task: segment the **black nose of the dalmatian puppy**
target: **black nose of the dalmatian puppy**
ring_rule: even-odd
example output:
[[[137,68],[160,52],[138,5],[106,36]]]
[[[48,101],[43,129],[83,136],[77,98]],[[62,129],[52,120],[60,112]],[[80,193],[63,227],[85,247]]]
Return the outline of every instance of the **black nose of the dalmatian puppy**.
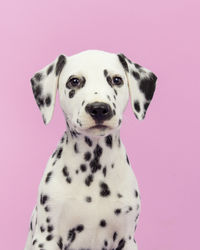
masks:
[[[104,102],[93,102],[87,104],[85,110],[97,122],[109,120],[113,115],[110,105]]]

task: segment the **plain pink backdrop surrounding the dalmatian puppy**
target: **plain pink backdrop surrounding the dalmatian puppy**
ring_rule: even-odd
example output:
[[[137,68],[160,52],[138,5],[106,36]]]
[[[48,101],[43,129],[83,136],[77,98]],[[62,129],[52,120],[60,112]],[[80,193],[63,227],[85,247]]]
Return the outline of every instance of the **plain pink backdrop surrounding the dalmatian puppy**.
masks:
[[[3,1],[0,6],[0,248],[23,249],[46,162],[65,129],[45,127],[30,77],[60,53],[122,52],[158,76],[146,119],[122,140],[142,194],[140,250],[199,248],[199,1]]]

